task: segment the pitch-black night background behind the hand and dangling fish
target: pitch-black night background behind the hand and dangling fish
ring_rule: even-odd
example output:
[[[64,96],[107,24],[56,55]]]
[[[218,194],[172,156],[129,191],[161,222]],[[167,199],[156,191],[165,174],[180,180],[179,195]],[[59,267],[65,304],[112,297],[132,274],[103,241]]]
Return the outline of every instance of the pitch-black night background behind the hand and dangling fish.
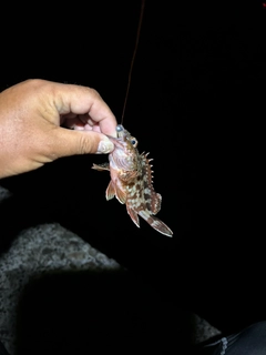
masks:
[[[7,8],[1,89],[29,78],[90,85],[120,123],[140,10]],[[145,3],[123,124],[154,159],[157,216],[173,239],[105,201],[109,174],[91,166],[106,156],[95,155],[2,180],[14,192],[2,243],[57,221],[221,329],[265,320],[265,23],[262,1]]]

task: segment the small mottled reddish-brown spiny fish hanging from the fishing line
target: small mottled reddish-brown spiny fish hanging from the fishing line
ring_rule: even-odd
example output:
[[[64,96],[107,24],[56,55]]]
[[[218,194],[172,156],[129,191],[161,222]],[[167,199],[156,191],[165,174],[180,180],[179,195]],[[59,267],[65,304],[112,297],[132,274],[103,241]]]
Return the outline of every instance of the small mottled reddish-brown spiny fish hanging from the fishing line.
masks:
[[[172,230],[155,216],[161,210],[162,195],[153,186],[153,159],[147,159],[150,153],[139,153],[137,140],[122,124],[116,125],[116,133],[117,138],[109,136],[114,144],[109,162],[92,165],[94,170],[110,172],[106,200],[116,197],[120,203],[125,204],[137,227],[141,216],[157,232],[173,236]]]

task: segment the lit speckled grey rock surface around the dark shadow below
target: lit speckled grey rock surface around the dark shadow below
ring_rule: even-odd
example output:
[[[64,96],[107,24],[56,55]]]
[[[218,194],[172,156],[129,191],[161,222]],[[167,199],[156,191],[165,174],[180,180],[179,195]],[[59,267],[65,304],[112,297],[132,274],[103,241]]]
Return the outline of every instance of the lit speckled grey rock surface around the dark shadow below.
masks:
[[[11,195],[0,186],[0,202]],[[25,285],[51,272],[119,271],[122,266],[58,223],[21,231],[0,257],[0,339],[13,355],[17,306]],[[219,334],[206,321],[193,316],[193,342]]]

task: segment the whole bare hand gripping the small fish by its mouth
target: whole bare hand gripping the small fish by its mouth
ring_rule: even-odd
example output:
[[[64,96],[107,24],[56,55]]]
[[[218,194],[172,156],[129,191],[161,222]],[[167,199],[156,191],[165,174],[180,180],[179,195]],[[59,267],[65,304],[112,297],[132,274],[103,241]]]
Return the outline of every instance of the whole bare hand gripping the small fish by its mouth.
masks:
[[[116,120],[90,88],[27,80],[0,93],[0,178],[74,154],[110,153]],[[70,130],[72,129],[72,130]]]

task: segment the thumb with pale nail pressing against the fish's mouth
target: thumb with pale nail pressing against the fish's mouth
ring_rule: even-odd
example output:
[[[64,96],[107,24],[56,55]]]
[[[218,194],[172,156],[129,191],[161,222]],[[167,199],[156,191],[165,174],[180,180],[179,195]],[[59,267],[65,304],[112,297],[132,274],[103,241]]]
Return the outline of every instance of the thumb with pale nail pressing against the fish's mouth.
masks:
[[[108,154],[114,150],[110,139],[94,131],[74,131],[58,126],[52,142],[57,158],[76,154]]]

